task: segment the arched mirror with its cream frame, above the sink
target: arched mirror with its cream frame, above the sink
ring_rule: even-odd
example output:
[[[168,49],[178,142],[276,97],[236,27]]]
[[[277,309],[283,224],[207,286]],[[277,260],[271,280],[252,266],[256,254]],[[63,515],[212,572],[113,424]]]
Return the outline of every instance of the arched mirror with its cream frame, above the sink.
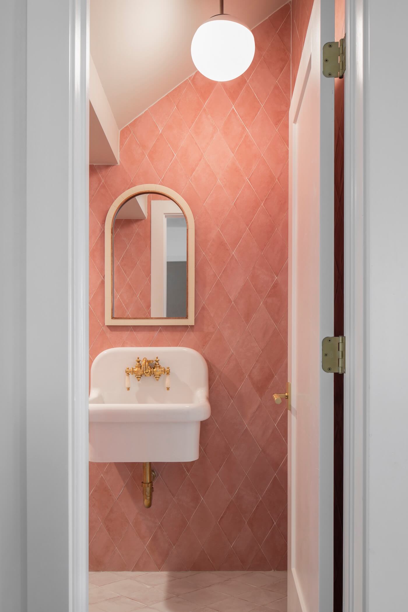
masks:
[[[132,187],[109,209],[105,324],[194,324],[194,218],[172,189]]]

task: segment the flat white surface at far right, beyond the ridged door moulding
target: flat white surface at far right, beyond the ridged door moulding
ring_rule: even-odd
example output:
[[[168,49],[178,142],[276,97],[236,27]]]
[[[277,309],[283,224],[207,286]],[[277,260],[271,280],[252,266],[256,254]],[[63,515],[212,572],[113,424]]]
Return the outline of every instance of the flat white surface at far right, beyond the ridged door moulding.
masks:
[[[406,57],[407,23],[407,2],[366,1],[369,612],[405,610],[408,605],[408,86],[399,61]]]

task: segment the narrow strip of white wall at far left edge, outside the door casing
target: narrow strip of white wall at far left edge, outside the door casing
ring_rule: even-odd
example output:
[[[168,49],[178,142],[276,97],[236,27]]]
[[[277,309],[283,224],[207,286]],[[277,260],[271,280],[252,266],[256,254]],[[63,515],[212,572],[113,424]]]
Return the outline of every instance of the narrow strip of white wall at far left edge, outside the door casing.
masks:
[[[0,19],[0,610],[26,610],[26,2]]]

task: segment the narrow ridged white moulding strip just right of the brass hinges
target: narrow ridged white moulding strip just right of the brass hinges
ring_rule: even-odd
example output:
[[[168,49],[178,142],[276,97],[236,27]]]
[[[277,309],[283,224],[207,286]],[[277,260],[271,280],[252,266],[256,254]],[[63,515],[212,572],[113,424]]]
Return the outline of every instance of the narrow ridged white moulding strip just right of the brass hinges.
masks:
[[[363,62],[367,44],[365,0],[346,0],[347,65],[344,91],[344,612],[365,608],[365,398],[368,359],[365,315]],[[360,332],[356,333],[356,330]],[[360,406],[361,409],[355,409]]]

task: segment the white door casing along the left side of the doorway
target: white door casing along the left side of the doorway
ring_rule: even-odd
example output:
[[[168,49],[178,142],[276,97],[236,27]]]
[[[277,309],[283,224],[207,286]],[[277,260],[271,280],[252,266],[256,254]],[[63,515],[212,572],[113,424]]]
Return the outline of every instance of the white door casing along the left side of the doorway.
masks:
[[[28,612],[88,609],[88,15],[27,0]]]

